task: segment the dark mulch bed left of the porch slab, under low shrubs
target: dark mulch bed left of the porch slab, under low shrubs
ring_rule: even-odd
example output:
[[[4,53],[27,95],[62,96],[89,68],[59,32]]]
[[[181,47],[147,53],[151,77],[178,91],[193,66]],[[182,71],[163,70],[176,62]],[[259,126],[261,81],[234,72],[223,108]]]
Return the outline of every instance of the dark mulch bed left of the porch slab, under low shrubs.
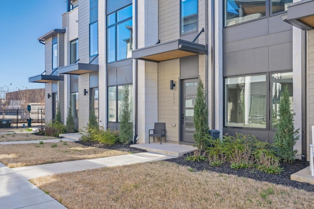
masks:
[[[85,146],[91,146],[91,147],[97,147],[97,148],[103,148],[103,149],[114,149],[114,150],[129,152],[129,153],[147,152],[146,150],[143,150],[143,149],[131,147],[130,146],[131,144],[104,145],[97,141],[83,141],[83,140],[76,141],[76,143],[79,143]]]

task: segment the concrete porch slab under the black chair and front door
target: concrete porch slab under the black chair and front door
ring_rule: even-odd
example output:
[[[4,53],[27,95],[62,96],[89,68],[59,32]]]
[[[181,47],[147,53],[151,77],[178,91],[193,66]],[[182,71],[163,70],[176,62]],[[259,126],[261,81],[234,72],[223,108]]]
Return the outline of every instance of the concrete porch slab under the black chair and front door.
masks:
[[[148,152],[170,155],[175,157],[181,157],[185,153],[192,152],[197,150],[196,147],[184,144],[175,144],[175,143],[145,143],[145,144],[132,144],[131,147],[144,149]]]

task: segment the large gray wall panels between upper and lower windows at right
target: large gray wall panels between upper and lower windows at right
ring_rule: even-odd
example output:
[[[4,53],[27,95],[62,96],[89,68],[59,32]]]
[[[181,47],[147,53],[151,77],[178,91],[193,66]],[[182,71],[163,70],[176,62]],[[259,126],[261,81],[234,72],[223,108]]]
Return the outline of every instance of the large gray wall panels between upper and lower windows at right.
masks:
[[[224,76],[292,70],[292,26],[280,16],[223,30]]]

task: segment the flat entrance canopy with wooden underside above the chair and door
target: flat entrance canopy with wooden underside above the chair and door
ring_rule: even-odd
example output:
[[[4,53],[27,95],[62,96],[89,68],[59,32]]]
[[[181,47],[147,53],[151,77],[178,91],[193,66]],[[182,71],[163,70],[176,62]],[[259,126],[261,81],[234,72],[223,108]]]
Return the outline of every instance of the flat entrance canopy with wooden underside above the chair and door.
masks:
[[[208,47],[205,45],[177,39],[174,41],[133,50],[132,59],[162,62],[166,60],[207,53]]]

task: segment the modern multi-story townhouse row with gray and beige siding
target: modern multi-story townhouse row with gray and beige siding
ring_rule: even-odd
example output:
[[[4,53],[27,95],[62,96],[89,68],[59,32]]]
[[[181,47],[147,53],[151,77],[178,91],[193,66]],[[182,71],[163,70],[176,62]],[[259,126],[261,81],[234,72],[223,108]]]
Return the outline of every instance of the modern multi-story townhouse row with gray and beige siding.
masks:
[[[210,129],[269,142],[288,85],[300,128],[295,149],[306,156],[314,125],[314,1],[292,3],[68,0],[62,29],[38,38],[45,73],[29,81],[46,83],[47,119],[59,107],[63,121],[72,114],[80,129],[90,112],[100,125],[119,129],[127,85],[139,142],[148,142],[154,122],[165,122],[167,141],[185,144],[194,143],[199,79],[208,92]]]

